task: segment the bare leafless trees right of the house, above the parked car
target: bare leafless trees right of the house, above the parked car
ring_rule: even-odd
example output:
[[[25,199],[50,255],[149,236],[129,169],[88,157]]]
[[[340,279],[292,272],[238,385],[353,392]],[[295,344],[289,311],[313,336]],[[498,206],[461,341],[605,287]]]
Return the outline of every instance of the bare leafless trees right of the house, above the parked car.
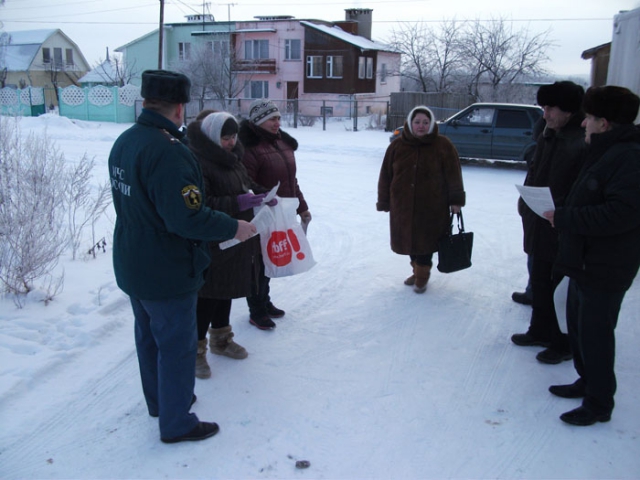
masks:
[[[549,32],[532,35],[503,18],[483,22],[445,20],[437,28],[402,23],[388,42],[402,52],[402,76],[423,92],[461,92],[476,99],[517,92],[510,86],[543,75]],[[486,89],[485,89],[486,90]]]

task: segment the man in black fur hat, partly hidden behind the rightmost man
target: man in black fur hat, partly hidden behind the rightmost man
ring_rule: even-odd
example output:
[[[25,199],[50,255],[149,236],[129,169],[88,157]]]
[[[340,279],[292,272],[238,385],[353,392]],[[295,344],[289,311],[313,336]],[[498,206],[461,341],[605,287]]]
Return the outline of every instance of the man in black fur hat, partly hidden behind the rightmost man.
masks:
[[[556,206],[562,206],[575,181],[586,148],[581,127],[584,89],[573,82],[555,82],[538,90],[546,126],[537,140],[524,184],[548,187]],[[532,312],[529,329],[511,337],[516,345],[541,346],[538,361],[558,364],[571,359],[569,339],[556,316],[553,293],[562,277],[553,276],[558,235],[544,218],[522,199],[518,202],[524,230],[524,251],[531,259]]]

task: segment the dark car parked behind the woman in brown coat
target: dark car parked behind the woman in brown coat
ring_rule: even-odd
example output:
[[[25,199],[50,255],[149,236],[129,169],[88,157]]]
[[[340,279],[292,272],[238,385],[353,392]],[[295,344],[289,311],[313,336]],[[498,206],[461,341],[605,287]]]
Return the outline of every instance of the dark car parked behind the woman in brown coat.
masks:
[[[528,161],[536,145],[534,125],[542,114],[535,105],[474,103],[438,128],[461,157]]]

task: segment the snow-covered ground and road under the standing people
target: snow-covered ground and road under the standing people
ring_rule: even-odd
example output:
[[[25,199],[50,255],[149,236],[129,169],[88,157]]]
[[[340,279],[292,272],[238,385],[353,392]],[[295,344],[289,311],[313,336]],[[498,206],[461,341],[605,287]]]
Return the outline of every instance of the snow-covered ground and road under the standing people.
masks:
[[[46,129],[68,161],[95,156],[96,183],[127,127],[21,120],[24,135]],[[274,331],[251,326],[246,303],[234,301],[249,357],[210,355],[213,377],[196,382],[193,406],[220,433],[160,442],[109,241],[96,259],[61,262],[65,288],[48,306],[38,292],[23,309],[0,299],[0,478],[640,477],[638,282],[617,329],[611,422],[566,425],[558,416],[579,402],[547,388],[575,380],[571,362],[540,364],[538,349],[509,340],[530,316],[510,299],[526,282],[514,187],[524,172],[463,167],[473,267],[435,272],[417,295],[402,283],[407,257],[389,249],[388,214],[375,210],[389,134],[340,122],[285,130],[300,143],[318,264],[272,281],[287,311]],[[110,208],[99,236],[110,240],[113,222]],[[296,469],[297,460],[310,467]]]

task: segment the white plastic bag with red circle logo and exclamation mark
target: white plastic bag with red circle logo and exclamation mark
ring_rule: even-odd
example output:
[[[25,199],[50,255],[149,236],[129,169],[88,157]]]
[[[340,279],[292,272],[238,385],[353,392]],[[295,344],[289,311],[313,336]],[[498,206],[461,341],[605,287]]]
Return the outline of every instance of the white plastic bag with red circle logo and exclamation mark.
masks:
[[[277,198],[276,206],[261,207],[273,215],[267,229],[260,231],[264,270],[269,278],[304,273],[316,264],[307,236],[296,219],[298,199]]]

